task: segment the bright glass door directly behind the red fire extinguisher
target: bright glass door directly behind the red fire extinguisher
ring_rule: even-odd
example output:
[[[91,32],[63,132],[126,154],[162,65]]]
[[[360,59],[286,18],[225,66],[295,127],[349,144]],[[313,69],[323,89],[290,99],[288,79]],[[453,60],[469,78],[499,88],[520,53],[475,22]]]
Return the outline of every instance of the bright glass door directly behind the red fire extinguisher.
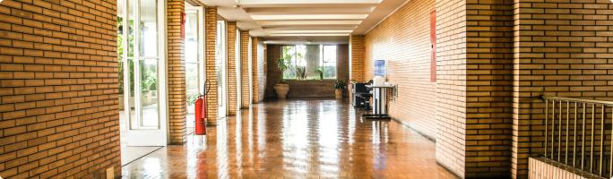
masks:
[[[195,107],[204,84],[204,18],[203,7],[186,7],[186,95],[187,128],[194,127]],[[188,130],[189,131],[189,130]]]

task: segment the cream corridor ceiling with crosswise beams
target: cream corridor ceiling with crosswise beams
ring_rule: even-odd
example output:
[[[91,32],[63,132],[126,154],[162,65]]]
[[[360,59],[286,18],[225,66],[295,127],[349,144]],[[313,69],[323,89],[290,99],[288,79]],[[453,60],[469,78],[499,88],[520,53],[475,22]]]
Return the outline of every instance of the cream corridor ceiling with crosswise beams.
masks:
[[[200,0],[266,44],[347,44],[407,0]],[[235,5],[238,5],[235,8]]]

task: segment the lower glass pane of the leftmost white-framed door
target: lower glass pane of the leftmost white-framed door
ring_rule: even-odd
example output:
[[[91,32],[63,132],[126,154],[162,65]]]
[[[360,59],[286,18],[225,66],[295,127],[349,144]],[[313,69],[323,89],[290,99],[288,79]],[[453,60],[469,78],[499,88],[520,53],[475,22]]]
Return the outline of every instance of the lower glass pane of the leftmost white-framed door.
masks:
[[[130,129],[159,129],[158,60],[130,59],[128,75],[131,82]]]

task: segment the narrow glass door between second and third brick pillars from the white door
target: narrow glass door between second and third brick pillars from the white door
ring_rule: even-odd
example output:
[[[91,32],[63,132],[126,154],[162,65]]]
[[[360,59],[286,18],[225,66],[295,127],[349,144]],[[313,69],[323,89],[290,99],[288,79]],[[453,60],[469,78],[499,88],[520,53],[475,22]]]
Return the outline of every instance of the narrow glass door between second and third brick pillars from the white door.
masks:
[[[217,118],[221,119],[226,117],[228,113],[228,78],[227,78],[227,70],[226,62],[228,60],[228,38],[226,30],[226,22],[225,21],[217,21],[217,40],[215,50],[217,54],[215,55],[215,64],[217,68],[217,91],[218,91],[218,107],[217,107]]]

